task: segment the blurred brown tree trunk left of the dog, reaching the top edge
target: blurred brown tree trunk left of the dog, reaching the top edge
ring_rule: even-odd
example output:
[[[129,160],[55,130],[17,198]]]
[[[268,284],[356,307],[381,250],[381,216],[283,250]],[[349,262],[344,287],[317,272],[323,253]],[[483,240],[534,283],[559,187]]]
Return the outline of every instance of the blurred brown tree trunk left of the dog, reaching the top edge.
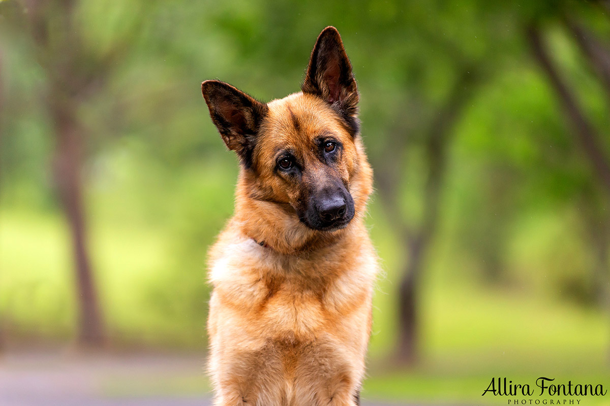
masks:
[[[54,180],[69,225],[80,318],[79,345],[99,347],[105,332],[87,249],[82,167],[86,131],[78,108],[104,79],[105,66],[92,61],[73,22],[74,1],[24,1],[35,53],[48,79],[45,103],[56,141]],[[93,67],[93,68],[91,68]]]

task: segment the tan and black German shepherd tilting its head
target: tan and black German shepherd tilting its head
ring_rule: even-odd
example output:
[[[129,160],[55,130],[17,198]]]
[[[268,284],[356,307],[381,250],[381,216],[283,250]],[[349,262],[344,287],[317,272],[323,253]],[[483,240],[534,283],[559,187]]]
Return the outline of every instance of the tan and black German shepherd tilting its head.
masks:
[[[209,256],[215,405],[357,405],[378,264],[339,32],[320,33],[299,93],[263,103],[218,80],[201,90],[240,159],[235,213]]]

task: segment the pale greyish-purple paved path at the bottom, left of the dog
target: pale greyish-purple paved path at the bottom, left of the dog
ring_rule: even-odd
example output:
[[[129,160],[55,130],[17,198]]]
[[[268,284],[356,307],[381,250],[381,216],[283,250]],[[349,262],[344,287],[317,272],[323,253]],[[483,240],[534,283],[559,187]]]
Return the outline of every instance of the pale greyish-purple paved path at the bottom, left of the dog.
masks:
[[[0,405],[209,406],[203,365],[192,354],[0,354]]]

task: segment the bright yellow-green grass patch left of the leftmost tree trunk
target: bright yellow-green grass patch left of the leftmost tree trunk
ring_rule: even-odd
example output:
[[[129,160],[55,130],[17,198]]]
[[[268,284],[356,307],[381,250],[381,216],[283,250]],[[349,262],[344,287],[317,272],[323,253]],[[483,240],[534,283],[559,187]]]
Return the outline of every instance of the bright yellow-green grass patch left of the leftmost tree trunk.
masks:
[[[0,212],[0,312],[13,329],[54,338],[73,333],[69,249],[61,219]]]

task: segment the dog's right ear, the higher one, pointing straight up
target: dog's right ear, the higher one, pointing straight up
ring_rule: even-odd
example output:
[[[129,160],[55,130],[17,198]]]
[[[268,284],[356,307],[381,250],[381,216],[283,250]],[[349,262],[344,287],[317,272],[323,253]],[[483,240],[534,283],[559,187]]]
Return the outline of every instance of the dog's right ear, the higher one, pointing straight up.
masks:
[[[339,31],[326,27],[315,42],[303,86],[303,93],[320,96],[342,116],[355,135],[358,125],[358,90],[351,63]]]

